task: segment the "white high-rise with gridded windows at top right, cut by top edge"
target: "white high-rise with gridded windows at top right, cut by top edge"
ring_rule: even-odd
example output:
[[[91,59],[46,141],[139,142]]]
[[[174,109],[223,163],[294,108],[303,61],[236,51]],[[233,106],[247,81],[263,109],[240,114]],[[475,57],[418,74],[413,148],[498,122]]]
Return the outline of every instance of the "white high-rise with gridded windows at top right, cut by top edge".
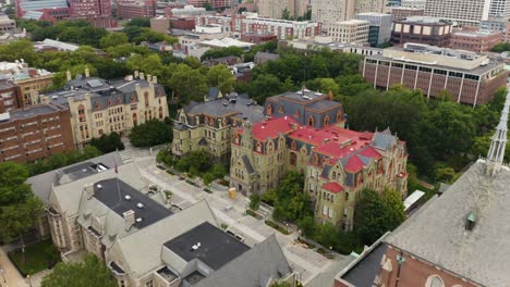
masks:
[[[425,15],[477,26],[489,16],[490,0],[426,0]]]

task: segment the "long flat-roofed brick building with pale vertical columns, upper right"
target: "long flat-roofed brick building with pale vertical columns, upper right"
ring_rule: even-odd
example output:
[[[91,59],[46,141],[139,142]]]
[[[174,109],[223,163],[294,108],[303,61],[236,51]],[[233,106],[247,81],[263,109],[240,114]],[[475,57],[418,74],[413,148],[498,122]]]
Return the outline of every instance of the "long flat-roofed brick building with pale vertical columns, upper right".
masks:
[[[494,92],[506,85],[508,75],[498,59],[418,43],[368,55],[360,64],[360,73],[376,88],[402,85],[421,89],[427,98],[446,90],[457,102],[473,107],[490,101]]]

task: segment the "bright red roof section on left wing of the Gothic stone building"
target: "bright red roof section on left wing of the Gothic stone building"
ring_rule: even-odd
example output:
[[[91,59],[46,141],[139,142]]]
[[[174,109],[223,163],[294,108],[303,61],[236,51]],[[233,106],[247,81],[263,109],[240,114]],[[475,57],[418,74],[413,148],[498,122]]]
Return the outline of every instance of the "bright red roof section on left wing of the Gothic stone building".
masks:
[[[290,116],[269,118],[253,125],[253,137],[256,140],[265,141],[267,138],[277,138],[279,134],[288,134],[294,130],[293,124],[298,122]],[[238,129],[242,134],[243,129]]]

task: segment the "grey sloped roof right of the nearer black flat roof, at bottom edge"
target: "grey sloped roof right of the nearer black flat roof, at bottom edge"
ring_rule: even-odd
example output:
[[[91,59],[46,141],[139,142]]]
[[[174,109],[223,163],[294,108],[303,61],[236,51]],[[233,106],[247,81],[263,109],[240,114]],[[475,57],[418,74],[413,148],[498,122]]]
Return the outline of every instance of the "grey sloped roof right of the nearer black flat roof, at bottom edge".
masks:
[[[286,255],[271,235],[194,287],[260,287],[291,273]]]

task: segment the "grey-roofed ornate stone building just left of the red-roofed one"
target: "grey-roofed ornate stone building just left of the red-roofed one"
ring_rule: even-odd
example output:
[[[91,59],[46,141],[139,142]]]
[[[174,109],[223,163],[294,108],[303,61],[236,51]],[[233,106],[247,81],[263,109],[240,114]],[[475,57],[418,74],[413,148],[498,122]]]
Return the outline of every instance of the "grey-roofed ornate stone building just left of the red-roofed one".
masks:
[[[181,157],[205,150],[212,159],[228,162],[232,128],[245,120],[262,121],[263,111],[263,107],[245,95],[223,96],[218,88],[210,88],[205,102],[192,102],[178,112],[172,154]]]

